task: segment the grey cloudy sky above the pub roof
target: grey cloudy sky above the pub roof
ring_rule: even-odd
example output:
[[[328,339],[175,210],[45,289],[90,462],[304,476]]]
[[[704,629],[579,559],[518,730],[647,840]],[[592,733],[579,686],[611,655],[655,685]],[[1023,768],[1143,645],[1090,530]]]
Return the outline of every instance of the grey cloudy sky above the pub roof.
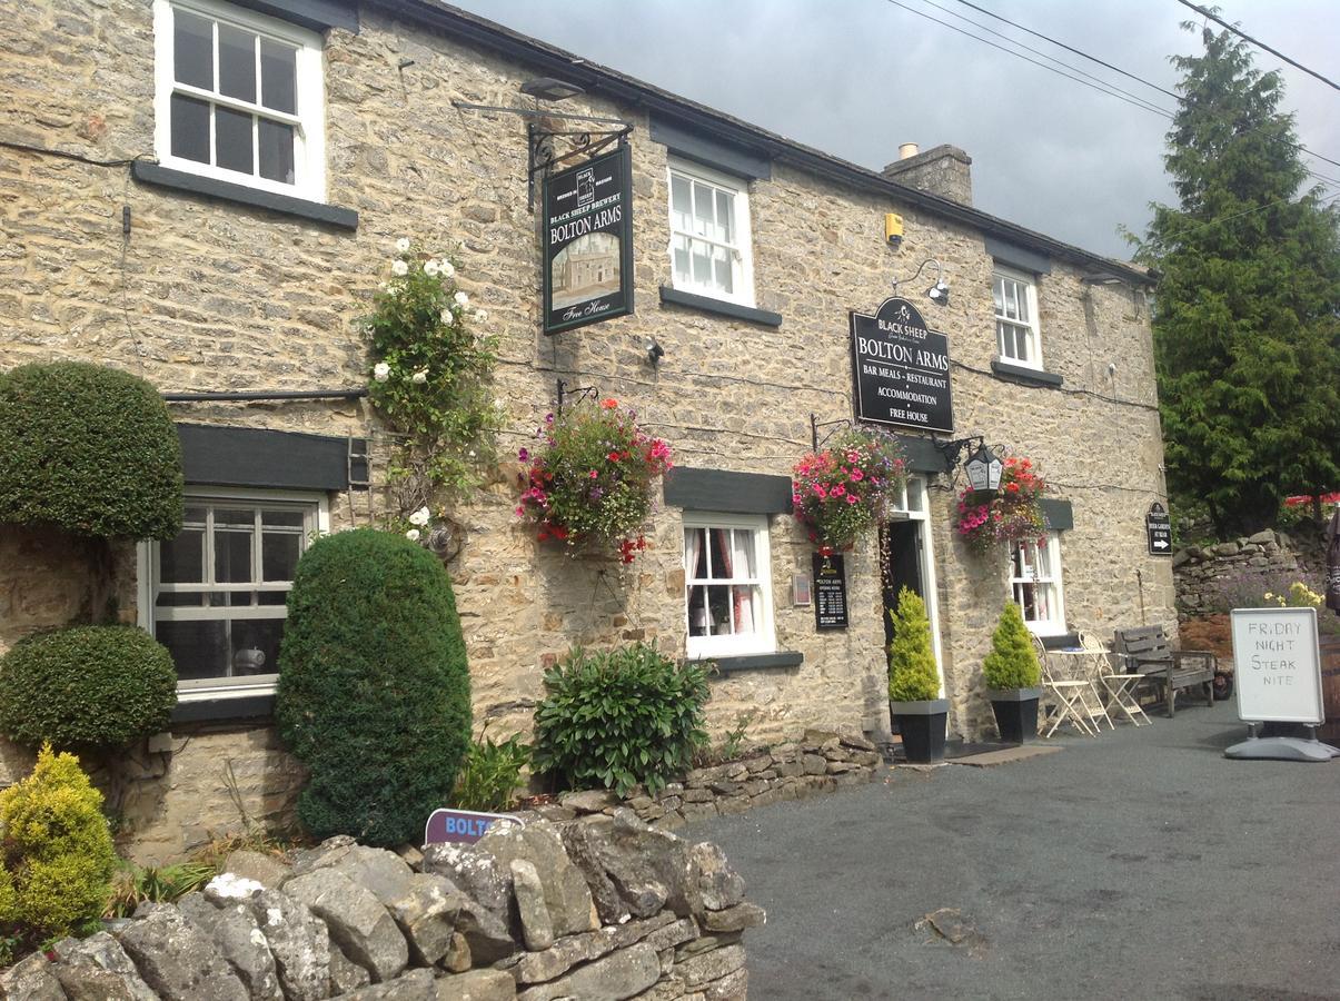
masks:
[[[452,0],[789,139],[880,169],[898,146],[942,142],[973,158],[977,208],[1097,253],[1127,257],[1119,225],[1143,232],[1150,201],[1171,201],[1160,115],[965,38],[906,8],[998,44],[962,15],[1101,75],[1159,107],[1172,98],[958,0]],[[977,7],[1175,90],[1172,54],[1199,52],[1177,0],[973,0]],[[1221,16],[1340,80],[1336,0],[1219,0]],[[937,9],[941,8],[941,9]],[[1340,91],[1281,67],[1285,110],[1304,146],[1340,161]],[[1037,59],[1036,55],[1029,58]],[[1340,166],[1315,159],[1335,178]]]

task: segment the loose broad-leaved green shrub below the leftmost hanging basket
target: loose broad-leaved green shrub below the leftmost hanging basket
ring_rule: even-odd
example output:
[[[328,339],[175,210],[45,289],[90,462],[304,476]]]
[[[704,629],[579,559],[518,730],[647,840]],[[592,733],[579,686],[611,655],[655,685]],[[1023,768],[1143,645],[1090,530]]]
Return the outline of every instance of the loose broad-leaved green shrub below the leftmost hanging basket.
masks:
[[[675,663],[654,643],[574,650],[544,673],[535,708],[535,761],[572,789],[634,785],[653,796],[708,742],[708,673]]]

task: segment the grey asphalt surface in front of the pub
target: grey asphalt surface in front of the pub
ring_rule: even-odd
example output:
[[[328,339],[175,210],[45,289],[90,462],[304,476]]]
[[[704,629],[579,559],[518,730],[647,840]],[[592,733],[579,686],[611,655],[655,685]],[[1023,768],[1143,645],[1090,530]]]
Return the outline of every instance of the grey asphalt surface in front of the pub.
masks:
[[[1340,758],[1230,761],[1235,702],[691,825],[768,911],[756,1001],[1340,998]],[[961,915],[958,945],[918,921]]]

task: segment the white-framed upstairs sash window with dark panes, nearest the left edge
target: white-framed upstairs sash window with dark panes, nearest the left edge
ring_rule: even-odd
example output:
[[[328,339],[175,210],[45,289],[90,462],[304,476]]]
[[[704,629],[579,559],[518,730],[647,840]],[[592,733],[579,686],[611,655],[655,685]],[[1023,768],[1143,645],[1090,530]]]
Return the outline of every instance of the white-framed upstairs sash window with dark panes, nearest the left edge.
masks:
[[[322,38],[216,0],[154,0],[163,166],[326,198]]]

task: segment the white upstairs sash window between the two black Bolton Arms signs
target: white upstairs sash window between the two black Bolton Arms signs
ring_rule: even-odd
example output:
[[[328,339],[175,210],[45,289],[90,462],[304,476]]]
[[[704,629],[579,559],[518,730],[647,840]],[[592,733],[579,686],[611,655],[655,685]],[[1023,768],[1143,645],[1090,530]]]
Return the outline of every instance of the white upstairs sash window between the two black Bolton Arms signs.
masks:
[[[670,161],[670,264],[682,292],[754,304],[744,178]]]

